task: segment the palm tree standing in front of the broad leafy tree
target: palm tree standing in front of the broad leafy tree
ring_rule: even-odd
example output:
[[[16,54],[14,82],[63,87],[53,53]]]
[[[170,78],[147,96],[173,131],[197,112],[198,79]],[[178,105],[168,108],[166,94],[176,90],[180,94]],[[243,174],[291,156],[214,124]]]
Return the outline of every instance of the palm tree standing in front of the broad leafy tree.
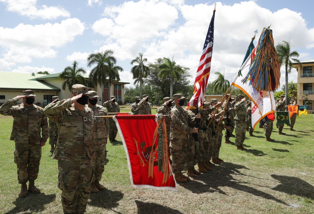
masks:
[[[164,57],[164,63],[159,66],[159,69],[160,73],[158,76],[161,77],[162,81],[165,81],[165,79],[170,76],[170,97],[172,97],[173,83],[174,81],[180,81],[180,75],[184,73],[184,70],[180,65],[176,65],[173,57],[172,60]]]

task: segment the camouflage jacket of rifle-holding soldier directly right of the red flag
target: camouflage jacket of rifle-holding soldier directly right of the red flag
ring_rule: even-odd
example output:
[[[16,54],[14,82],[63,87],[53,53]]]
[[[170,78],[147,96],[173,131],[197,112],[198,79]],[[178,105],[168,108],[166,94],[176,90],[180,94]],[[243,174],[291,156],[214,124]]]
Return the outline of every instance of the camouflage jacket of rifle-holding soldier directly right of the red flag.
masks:
[[[169,112],[170,140],[189,139],[188,134],[192,134],[193,128],[189,124],[194,124],[195,117],[192,117],[187,110],[174,106]]]

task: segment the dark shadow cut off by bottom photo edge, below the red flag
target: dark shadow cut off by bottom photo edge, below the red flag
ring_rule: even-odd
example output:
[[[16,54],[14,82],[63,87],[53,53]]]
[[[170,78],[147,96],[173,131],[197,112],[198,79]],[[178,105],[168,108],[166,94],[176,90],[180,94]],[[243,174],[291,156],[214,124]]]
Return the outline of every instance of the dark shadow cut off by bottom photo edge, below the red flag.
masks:
[[[180,214],[182,212],[172,209],[168,206],[163,206],[156,203],[150,203],[150,202],[142,202],[135,200],[136,206],[138,208],[138,214],[164,214],[164,213],[173,213],[173,214]]]

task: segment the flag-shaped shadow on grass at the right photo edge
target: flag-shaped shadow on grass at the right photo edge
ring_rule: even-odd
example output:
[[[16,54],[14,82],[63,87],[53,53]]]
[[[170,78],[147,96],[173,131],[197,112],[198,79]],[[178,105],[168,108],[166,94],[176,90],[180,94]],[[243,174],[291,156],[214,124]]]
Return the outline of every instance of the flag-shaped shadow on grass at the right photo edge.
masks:
[[[272,190],[284,192],[290,195],[297,195],[314,200],[314,186],[306,181],[285,175],[271,175],[274,179],[279,180],[280,184]]]

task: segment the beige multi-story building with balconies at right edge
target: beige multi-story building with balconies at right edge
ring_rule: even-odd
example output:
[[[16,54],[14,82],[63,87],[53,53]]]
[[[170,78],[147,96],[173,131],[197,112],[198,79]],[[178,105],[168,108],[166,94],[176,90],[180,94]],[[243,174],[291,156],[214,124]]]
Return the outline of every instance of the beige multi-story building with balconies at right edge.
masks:
[[[314,59],[301,61],[302,68],[298,63],[293,63],[293,67],[298,71],[298,104],[307,105],[308,112],[314,112],[313,100],[314,100]]]

